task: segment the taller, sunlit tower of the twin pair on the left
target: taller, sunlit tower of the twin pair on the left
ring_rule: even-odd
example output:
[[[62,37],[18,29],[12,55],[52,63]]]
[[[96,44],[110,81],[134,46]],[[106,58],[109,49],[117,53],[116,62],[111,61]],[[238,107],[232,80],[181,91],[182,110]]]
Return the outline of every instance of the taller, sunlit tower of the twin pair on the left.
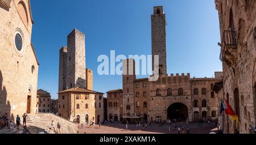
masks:
[[[68,35],[67,88],[85,88],[85,35],[74,29]]]

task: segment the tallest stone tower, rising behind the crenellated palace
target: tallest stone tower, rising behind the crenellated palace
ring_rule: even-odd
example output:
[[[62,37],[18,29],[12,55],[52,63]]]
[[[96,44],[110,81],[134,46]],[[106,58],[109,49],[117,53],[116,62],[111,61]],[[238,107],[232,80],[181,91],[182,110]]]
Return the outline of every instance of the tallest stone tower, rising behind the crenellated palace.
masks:
[[[152,69],[154,71],[154,56],[159,56],[159,74],[167,74],[166,66],[166,14],[162,6],[154,7],[151,15],[152,37]]]

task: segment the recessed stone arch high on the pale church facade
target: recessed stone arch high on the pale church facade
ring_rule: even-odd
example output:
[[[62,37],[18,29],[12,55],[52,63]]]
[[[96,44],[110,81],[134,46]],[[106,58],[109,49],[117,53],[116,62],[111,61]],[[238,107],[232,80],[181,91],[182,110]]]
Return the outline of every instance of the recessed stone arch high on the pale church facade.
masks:
[[[28,27],[28,12],[26,3],[24,1],[19,1],[17,8],[20,18],[22,19],[23,23]]]

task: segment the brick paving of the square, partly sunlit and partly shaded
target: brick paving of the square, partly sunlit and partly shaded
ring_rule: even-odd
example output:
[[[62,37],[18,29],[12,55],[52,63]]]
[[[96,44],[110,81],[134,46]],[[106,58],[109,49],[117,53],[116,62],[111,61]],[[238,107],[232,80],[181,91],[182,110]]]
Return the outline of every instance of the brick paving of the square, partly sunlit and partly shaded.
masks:
[[[214,123],[176,123],[179,127],[184,127],[185,134],[187,133],[186,129],[189,127],[189,134],[209,134],[210,132],[217,133],[217,128]],[[125,130],[125,124],[115,123],[115,124],[105,124],[101,125],[101,129],[98,125],[94,126],[84,126],[81,128],[79,126],[80,134],[178,134],[175,126],[171,126],[172,129],[169,132],[169,126],[163,125],[159,126],[158,124],[153,124],[146,130],[144,127],[137,127],[136,124],[129,124],[128,130]],[[181,133],[181,131],[180,131]]]

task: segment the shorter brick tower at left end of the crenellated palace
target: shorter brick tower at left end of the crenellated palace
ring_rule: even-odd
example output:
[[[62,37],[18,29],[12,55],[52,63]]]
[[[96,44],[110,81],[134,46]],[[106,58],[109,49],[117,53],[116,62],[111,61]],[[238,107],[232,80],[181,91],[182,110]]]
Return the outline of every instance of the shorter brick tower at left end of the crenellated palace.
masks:
[[[134,80],[135,61],[134,59],[123,60],[123,115],[134,116]]]

